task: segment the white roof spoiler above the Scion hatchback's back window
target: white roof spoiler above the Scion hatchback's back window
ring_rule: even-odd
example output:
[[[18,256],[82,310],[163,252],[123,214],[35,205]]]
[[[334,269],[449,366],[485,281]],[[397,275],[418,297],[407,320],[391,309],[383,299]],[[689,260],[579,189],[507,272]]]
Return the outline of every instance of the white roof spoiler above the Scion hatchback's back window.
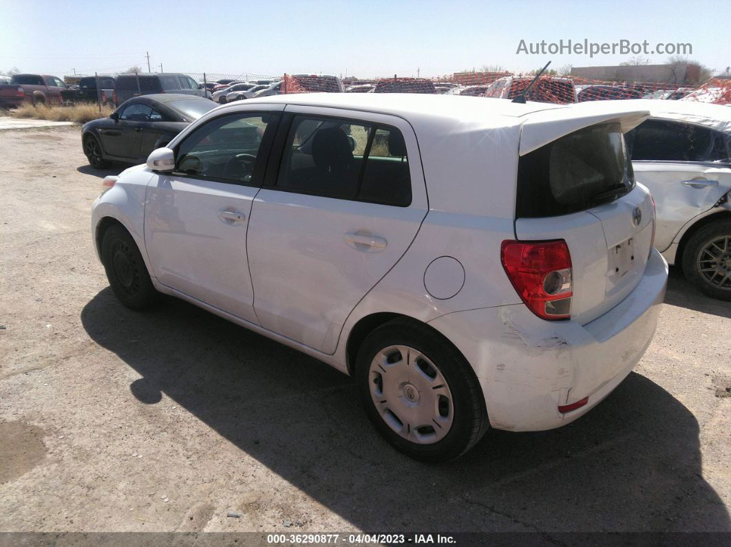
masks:
[[[520,130],[520,156],[597,123],[619,123],[622,132],[626,133],[640,125],[649,115],[647,110],[629,110],[617,104],[602,107],[602,101],[532,112],[526,115]]]

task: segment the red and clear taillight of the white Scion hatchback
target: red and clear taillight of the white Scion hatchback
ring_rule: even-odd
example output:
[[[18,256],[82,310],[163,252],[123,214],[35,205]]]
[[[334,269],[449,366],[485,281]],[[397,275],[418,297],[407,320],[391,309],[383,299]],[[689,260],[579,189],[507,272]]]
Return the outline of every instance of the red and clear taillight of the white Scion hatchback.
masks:
[[[571,317],[571,254],[564,240],[502,242],[501,261],[515,291],[543,319]]]

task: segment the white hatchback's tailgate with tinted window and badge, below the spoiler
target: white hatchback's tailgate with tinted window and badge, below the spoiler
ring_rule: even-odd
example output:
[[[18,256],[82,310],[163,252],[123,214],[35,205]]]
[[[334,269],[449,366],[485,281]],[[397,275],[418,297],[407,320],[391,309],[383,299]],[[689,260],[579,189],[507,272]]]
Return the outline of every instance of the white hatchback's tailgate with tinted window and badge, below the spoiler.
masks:
[[[567,243],[573,321],[593,321],[640,282],[654,213],[635,185],[619,123],[579,129],[521,156],[516,199],[518,240]]]

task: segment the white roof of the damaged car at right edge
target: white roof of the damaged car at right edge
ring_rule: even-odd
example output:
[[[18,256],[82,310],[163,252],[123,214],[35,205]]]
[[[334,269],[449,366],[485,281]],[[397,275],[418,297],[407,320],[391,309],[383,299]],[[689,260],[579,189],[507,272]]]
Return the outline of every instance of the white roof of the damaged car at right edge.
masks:
[[[664,99],[630,99],[650,112],[653,118],[700,123],[716,131],[731,133],[731,107],[694,101]],[[621,107],[625,101],[603,101],[606,107]],[[611,104],[609,104],[611,103]],[[615,105],[616,104],[616,105]]]

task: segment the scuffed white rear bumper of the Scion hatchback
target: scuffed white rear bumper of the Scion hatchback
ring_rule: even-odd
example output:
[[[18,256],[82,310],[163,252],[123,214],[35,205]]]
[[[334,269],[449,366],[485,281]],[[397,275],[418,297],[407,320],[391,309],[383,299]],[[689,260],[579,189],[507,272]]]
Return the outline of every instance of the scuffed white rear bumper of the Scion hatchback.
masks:
[[[491,426],[540,431],[568,424],[604,399],[650,344],[667,283],[652,251],[635,290],[588,324],[544,321],[525,305],[442,315],[430,322],[462,351],[485,394]],[[570,405],[588,403],[568,413]]]

